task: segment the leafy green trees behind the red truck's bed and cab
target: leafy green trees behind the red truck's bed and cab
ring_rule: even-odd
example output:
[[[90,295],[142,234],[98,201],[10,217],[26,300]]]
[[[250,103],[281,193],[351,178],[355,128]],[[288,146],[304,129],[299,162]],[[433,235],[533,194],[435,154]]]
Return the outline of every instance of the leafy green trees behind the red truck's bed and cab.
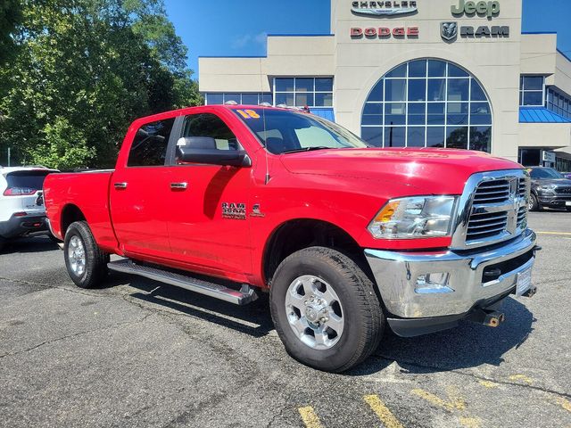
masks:
[[[111,167],[137,117],[201,102],[162,0],[24,0],[0,67],[1,144],[20,161]]]

